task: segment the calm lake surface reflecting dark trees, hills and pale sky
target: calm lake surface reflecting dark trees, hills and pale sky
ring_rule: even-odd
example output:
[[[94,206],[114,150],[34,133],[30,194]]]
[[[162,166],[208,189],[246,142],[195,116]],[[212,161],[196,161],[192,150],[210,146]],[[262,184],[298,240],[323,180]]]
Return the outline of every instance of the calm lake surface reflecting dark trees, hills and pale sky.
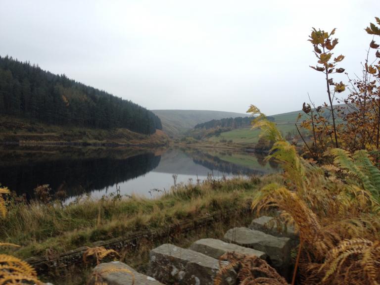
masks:
[[[277,171],[262,156],[216,150],[173,148],[134,150],[68,147],[0,148],[0,183],[33,197],[34,188],[49,184],[65,190],[68,202],[85,193],[94,198],[121,194],[156,197],[176,183]]]

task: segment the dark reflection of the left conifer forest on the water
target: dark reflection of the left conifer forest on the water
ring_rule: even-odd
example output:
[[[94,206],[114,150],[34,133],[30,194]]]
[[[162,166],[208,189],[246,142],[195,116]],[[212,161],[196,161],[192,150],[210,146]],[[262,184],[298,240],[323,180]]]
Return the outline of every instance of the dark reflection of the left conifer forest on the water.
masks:
[[[43,184],[49,184],[52,193],[65,190],[71,197],[137,178],[156,168],[160,160],[161,156],[143,153],[124,159],[60,159],[0,166],[0,181],[18,195],[26,193],[28,198],[33,196],[34,188]]]

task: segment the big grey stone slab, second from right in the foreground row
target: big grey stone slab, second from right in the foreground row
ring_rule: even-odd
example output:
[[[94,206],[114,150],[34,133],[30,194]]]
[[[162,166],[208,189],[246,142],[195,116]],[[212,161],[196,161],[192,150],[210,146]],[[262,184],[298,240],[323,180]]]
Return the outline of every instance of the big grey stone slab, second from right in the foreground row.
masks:
[[[233,228],[227,231],[224,239],[265,252],[276,269],[284,269],[289,265],[290,238],[278,238],[248,228]]]

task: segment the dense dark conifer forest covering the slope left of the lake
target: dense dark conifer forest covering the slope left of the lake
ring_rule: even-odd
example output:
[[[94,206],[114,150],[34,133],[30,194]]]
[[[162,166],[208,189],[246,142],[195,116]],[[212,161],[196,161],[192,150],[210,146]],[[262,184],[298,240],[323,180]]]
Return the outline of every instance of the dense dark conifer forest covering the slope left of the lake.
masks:
[[[1,114],[141,134],[162,129],[160,119],[138,104],[8,56],[0,56]]]

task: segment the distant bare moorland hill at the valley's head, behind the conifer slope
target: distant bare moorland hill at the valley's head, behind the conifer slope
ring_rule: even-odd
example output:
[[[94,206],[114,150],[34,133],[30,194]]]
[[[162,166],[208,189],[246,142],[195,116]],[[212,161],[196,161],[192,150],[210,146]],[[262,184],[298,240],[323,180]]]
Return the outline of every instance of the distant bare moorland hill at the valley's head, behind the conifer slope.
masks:
[[[177,137],[197,124],[223,118],[246,117],[246,114],[207,110],[152,110],[162,122],[162,130],[171,137]]]

